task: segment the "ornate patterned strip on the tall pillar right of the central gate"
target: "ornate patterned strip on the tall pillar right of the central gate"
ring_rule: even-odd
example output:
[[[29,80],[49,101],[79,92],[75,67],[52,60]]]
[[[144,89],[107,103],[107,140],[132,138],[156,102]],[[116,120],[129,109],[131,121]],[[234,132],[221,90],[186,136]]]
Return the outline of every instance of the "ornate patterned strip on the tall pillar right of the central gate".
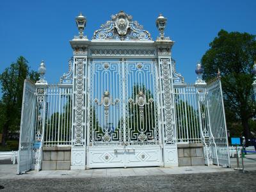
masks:
[[[175,130],[175,119],[174,119],[174,106],[172,100],[172,86],[170,76],[170,65],[169,59],[161,59],[162,73],[163,73],[163,90],[164,90],[164,118],[165,118],[165,135],[166,143],[174,144],[174,130]]]

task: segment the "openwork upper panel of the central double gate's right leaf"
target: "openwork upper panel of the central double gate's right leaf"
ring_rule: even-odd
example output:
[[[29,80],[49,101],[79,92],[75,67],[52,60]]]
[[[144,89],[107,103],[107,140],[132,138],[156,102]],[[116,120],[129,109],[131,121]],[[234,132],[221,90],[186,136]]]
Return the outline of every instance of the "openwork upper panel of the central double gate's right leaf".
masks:
[[[131,145],[158,145],[156,65],[153,61],[125,64],[126,141]]]

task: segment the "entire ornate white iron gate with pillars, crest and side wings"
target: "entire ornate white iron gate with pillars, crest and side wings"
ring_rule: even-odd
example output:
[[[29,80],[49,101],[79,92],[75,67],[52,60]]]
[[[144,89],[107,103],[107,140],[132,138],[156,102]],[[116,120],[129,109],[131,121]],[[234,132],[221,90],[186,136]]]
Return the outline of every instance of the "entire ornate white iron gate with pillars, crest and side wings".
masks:
[[[79,36],[58,84],[24,81],[18,173],[134,166],[230,166],[220,76],[195,84],[175,70],[159,15],[157,40],[119,12]]]

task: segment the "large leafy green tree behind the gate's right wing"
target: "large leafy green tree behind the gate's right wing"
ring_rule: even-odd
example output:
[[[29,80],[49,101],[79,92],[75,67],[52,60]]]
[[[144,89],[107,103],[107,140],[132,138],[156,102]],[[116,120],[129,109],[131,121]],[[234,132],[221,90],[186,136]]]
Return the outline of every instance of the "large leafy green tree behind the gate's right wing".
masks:
[[[228,33],[223,29],[210,43],[210,49],[202,57],[204,79],[215,77],[220,68],[227,124],[239,122],[246,140],[250,138],[249,120],[256,115],[251,74],[255,60],[255,35]],[[232,129],[228,127],[230,128]]]

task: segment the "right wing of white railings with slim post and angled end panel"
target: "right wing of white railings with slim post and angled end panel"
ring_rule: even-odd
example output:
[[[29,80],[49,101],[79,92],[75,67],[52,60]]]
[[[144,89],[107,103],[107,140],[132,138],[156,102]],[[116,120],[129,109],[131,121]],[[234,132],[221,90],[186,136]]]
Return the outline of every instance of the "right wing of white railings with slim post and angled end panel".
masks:
[[[220,78],[177,84],[174,95],[178,143],[202,143],[205,164],[230,166]]]

